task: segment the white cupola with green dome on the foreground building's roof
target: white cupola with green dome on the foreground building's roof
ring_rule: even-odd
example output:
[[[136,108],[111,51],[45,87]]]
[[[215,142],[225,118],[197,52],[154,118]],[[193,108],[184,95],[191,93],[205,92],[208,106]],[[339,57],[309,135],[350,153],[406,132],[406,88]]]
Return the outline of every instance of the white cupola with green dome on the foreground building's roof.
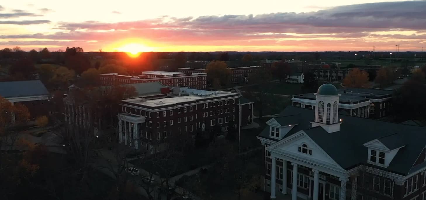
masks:
[[[339,113],[339,97],[336,87],[332,84],[323,84],[318,88],[315,106],[315,121],[311,122],[312,127],[321,126],[328,133],[340,130],[338,120]]]

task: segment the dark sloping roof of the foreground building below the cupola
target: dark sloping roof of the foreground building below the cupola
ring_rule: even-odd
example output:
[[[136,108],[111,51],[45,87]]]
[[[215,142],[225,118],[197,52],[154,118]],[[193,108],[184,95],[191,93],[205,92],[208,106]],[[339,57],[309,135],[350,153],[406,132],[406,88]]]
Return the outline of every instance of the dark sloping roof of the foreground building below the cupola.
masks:
[[[280,116],[297,115],[299,125],[291,129],[285,137],[303,130],[342,168],[348,170],[360,164],[367,164],[368,148],[363,144],[374,139],[381,139],[389,148],[405,145],[392,159],[386,171],[407,175],[418,165],[414,166],[419,154],[426,145],[426,127],[384,122],[354,116],[339,115],[342,119],[340,131],[327,133],[322,127],[311,128],[310,121],[314,119],[315,110],[288,106]],[[259,137],[269,138],[269,127],[263,130]],[[271,139],[278,141],[276,139]]]

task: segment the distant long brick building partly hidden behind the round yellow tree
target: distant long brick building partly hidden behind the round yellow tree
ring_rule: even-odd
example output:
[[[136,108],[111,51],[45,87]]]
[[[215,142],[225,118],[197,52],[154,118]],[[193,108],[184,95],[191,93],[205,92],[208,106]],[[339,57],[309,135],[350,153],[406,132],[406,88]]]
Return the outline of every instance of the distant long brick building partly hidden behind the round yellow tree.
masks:
[[[231,83],[238,83],[238,82],[246,82],[248,81],[248,76],[255,72],[256,70],[259,70],[259,66],[250,66],[250,67],[233,67],[233,68],[229,68],[232,71],[232,76],[231,76]],[[204,69],[194,69],[194,68],[189,68],[189,67],[185,67],[185,68],[178,68],[179,72],[186,72],[186,73],[191,73],[191,72],[198,72],[198,73],[202,73],[204,72]]]

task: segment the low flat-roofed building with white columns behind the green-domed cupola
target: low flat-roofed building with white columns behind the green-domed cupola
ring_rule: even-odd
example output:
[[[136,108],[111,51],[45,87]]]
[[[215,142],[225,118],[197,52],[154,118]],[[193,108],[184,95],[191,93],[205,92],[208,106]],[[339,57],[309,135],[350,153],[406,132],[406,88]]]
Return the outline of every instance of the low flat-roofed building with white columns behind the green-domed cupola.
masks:
[[[391,114],[393,90],[378,88],[347,88],[338,90],[339,109],[350,116],[379,119]],[[314,93],[294,95],[293,106],[315,109]]]

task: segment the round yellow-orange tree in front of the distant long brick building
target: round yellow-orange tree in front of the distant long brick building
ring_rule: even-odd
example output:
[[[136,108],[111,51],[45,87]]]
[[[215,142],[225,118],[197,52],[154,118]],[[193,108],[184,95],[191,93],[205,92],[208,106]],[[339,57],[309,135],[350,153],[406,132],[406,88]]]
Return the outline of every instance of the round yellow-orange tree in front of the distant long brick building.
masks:
[[[211,61],[207,64],[205,72],[207,73],[207,80],[210,83],[213,84],[215,79],[217,79],[222,86],[229,83],[232,75],[232,71],[227,68],[224,61]]]

